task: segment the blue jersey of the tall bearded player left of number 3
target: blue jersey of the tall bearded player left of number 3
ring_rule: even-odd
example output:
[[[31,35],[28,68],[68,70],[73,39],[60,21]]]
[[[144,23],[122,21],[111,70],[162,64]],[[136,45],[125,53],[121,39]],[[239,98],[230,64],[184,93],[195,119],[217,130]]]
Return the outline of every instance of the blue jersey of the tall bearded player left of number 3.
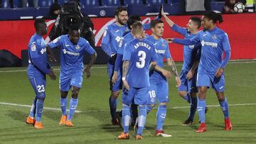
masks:
[[[105,33],[103,34],[102,44],[110,46],[111,54],[117,53],[119,42],[122,36],[129,31],[126,26],[117,26],[117,23],[112,23],[107,26]]]

